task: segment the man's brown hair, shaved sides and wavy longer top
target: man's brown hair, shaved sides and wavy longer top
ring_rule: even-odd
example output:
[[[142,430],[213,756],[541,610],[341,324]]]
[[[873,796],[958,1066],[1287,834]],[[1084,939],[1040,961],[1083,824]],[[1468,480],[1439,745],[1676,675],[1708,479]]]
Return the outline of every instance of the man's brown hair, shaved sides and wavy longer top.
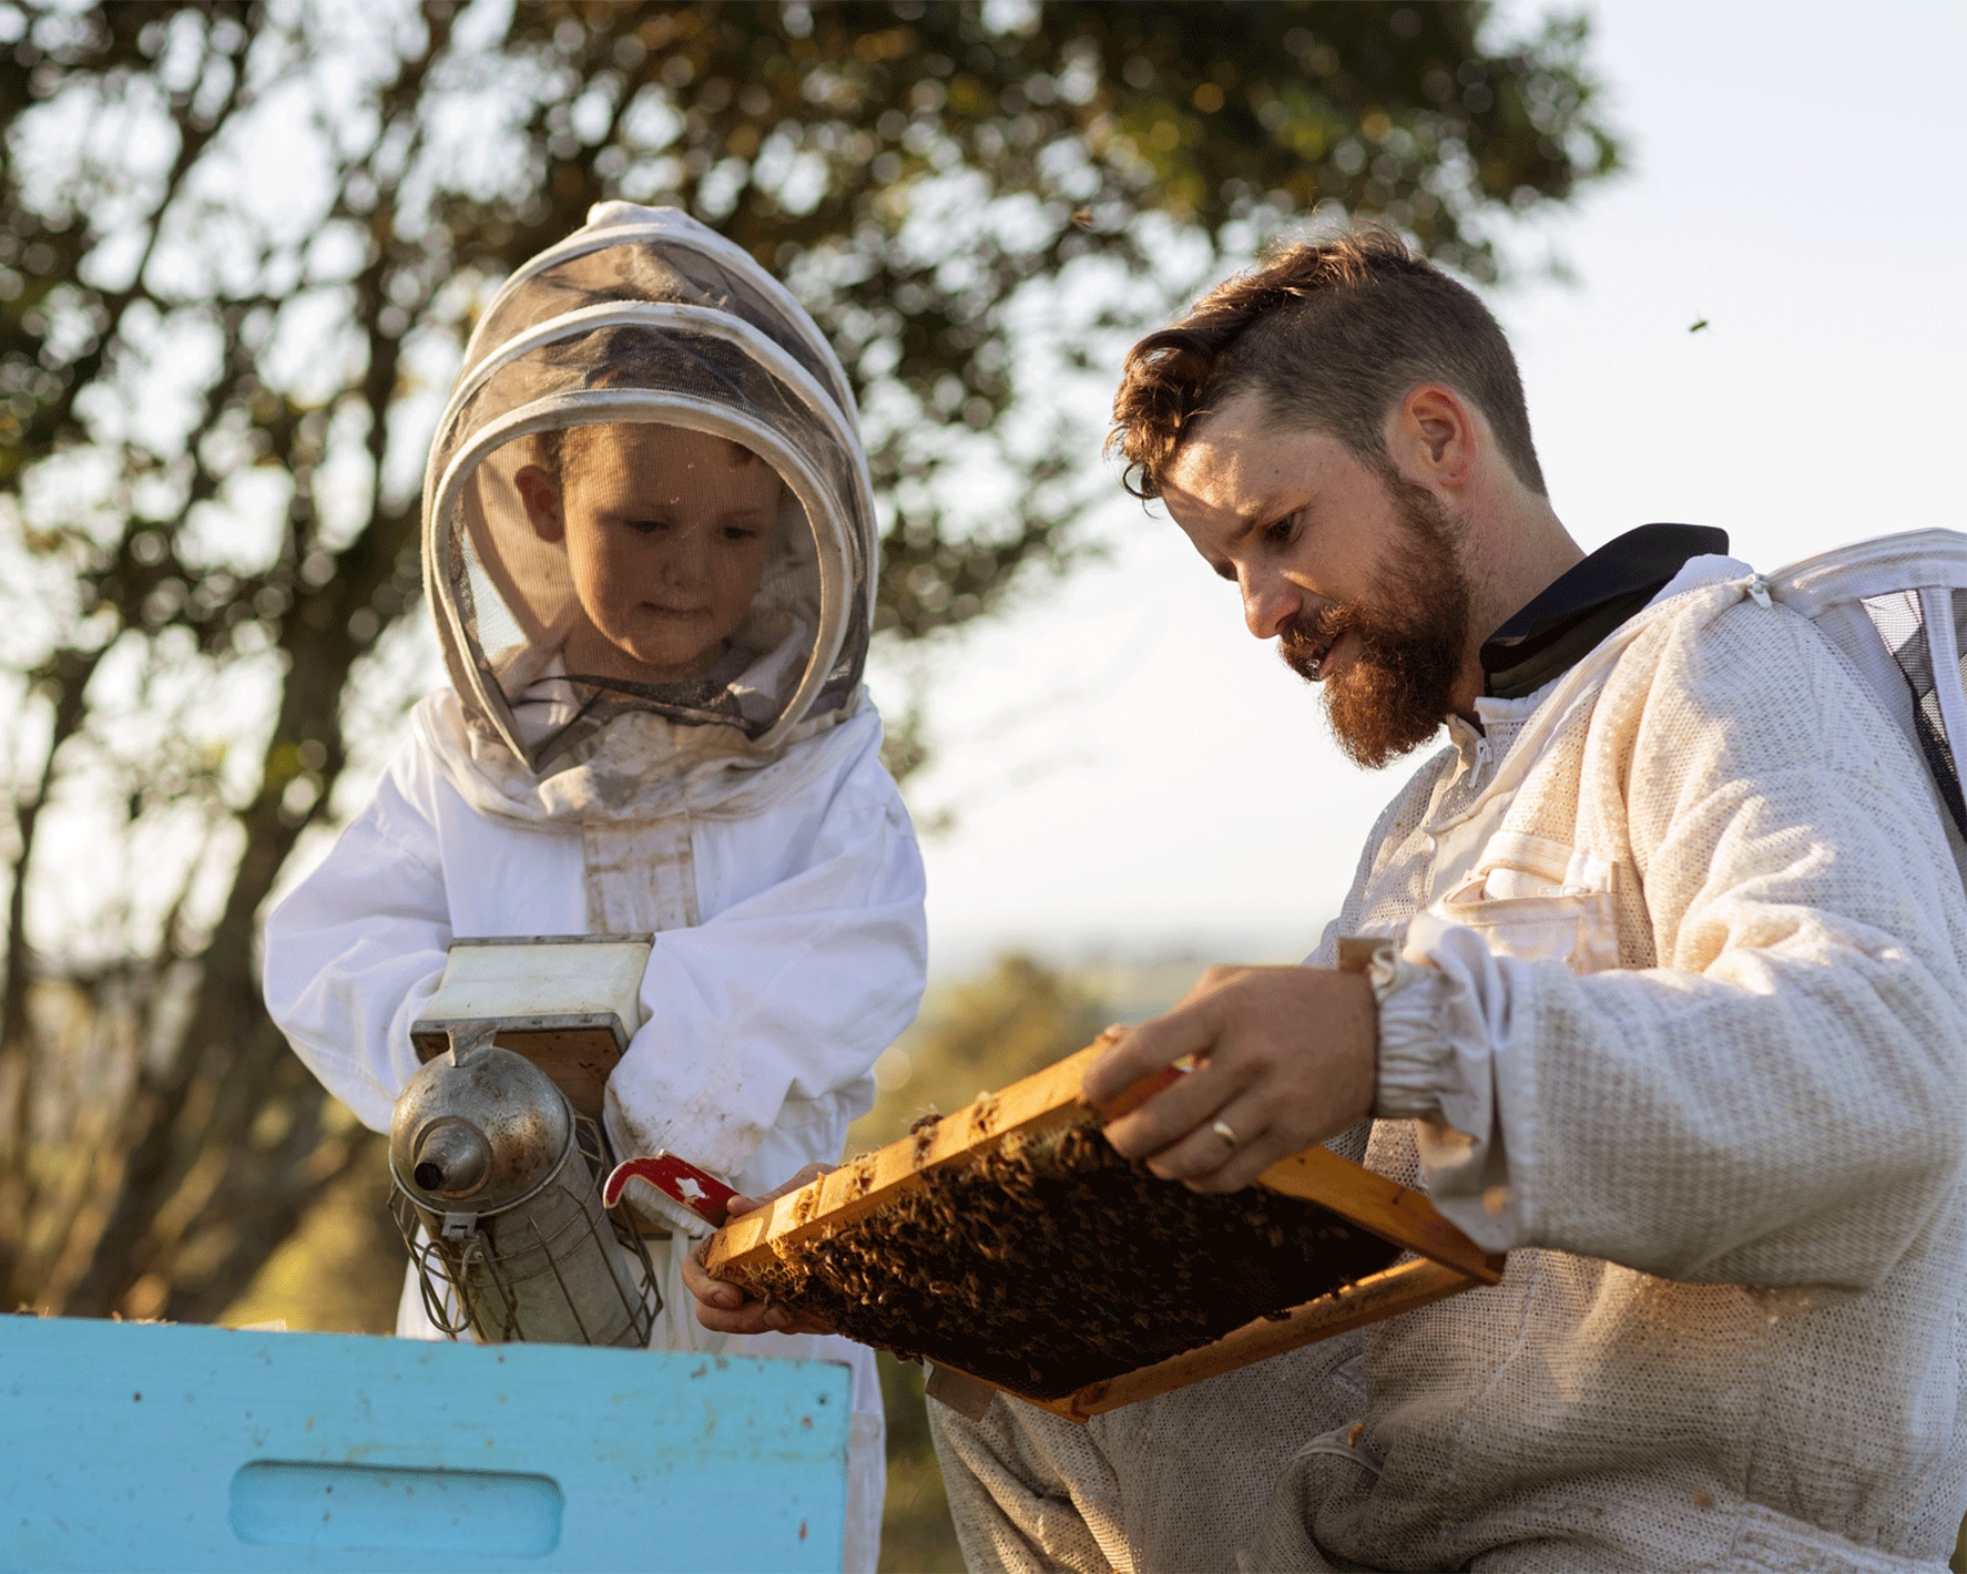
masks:
[[[1385,468],[1387,413],[1424,382],[1475,403],[1517,478],[1544,494],[1503,329],[1475,291],[1383,228],[1286,246],[1135,344],[1107,453],[1127,462],[1129,492],[1159,498],[1194,427],[1255,390],[1271,415]]]

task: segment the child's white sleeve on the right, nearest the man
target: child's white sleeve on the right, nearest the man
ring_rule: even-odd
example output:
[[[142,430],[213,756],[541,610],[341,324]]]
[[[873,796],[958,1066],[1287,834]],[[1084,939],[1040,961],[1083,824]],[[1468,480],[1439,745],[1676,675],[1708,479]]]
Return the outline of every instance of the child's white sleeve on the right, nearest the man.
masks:
[[[923,893],[909,815],[869,752],[799,874],[655,937],[649,1021],[608,1078],[616,1151],[738,1177],[787,1100],[865,1078],[923,998]]]

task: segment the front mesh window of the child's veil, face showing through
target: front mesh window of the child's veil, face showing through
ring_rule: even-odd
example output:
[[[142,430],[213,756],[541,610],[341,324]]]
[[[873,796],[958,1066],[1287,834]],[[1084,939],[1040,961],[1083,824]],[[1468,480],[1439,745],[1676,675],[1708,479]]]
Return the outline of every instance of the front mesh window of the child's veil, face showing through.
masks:
[[[806,512],[730,439],[663,423],[527,435],[448,529],[466,639],[541,757],[624,708],[769,728],[812,659]]]

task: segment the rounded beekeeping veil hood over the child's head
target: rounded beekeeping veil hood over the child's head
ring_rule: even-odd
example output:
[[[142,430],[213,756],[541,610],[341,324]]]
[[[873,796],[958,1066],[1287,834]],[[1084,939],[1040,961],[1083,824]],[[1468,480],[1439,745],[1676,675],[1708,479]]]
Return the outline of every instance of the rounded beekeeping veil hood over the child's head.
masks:
[[[466,346],[423,567],[464,728],[535,779],[629,712],[769,757],[860,695],[875,525],[846,374],[744,250],[604,203]]]

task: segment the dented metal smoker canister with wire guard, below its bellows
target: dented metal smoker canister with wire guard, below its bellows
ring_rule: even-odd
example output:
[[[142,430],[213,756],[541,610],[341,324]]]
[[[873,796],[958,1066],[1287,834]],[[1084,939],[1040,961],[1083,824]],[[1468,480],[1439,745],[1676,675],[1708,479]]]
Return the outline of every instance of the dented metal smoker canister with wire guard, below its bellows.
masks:
[[[639,1234],[602,1206],[600,1127],[492,1033],[450,1029],[389,1123],[391,1212],[431,1322],[478,1344],[641,1348],[663,1302]]]

